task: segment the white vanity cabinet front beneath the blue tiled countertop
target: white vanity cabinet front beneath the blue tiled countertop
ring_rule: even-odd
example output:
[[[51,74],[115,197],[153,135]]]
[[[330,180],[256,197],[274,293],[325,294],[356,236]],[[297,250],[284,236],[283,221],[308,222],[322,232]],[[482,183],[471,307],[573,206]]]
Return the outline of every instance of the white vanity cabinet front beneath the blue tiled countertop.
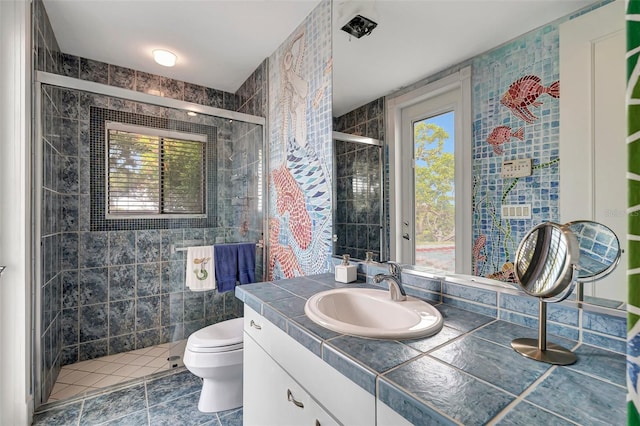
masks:
[[[253,309],[244,309],[245,425],[376,424],[373,395]]]

